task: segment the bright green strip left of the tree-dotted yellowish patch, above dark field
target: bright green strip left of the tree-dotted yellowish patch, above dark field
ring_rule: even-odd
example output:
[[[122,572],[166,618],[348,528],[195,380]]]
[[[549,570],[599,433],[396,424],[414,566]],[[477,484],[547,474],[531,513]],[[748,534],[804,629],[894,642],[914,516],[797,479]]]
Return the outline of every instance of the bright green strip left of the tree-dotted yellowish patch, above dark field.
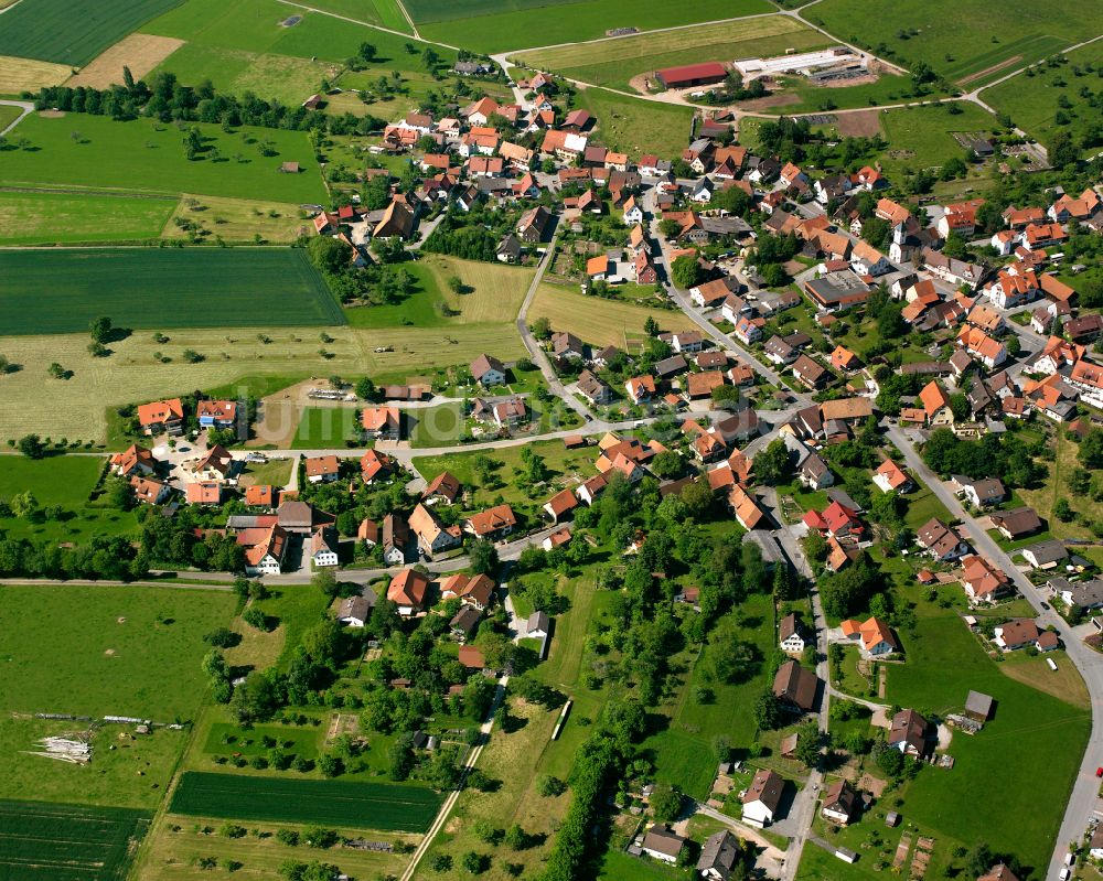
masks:
[[[0,245],[157,238],[178,203],[175,196],[0,191]]]

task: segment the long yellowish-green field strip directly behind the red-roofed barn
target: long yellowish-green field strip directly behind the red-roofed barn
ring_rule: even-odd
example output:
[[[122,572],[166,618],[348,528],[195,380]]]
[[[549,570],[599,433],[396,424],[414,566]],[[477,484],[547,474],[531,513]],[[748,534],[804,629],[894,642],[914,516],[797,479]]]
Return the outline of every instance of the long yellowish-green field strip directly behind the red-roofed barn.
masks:
[[[583,83],[628,88],[633,76],[662,67],[780,55],[788,49],[806,50],[827,44],[822,33],[806,24],[788,15],[771,15],[537,50],[513,58]]]

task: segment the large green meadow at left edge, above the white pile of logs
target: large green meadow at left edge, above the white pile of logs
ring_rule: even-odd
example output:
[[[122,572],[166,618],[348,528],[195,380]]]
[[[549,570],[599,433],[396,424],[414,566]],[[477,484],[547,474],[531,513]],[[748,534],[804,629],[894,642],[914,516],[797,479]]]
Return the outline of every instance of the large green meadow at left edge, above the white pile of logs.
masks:
[[[0,598],[0,708],[161,722],[195,711],[203,634],[235,603],[228,591],[173,588],[3,587]]]

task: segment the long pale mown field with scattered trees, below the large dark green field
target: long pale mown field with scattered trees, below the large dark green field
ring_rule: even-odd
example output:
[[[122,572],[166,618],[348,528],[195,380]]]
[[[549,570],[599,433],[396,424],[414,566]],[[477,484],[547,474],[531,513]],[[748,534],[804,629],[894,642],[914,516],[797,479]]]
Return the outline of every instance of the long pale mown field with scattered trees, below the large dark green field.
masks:
[[[265,321],[271,311],[258,311],[255,319]],[[196,388],[233,388],[246,376],[287,379],[286,385],[290,385],[311,376],[366,374],[399,383],[438,367],[469,364],[483,352],[493,352],[503,361],[525,353],[512,320],[448,329],[326,327],[324,333],[332,342],[321,342],[319,327],[186,329],[171,331],[168,343],[157,343],[152,333],[139,332],[111,343],[114,354],[107,358],[88,354],[85,332],[0,336],[0,353],[21,367],[0,377],[0,439],[38,432],[103,442],[109,407]],[[374,351],[385,346],[393,351]],[[184,362],[182,354],[189,348],[205,361]],[[46,368],[53,362],[72,370],[72,378],[47,378]]]

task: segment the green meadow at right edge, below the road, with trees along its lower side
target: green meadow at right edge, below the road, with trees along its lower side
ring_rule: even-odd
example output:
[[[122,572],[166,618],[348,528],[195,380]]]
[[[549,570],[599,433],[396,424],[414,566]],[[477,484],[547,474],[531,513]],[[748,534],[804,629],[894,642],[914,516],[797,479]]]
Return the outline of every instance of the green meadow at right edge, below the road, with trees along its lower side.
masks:
[[[1068,60],[1067,65],[1036,68],[1030,76],[1019,74],[985,89],[983,98],[1011,117],[1015,125],[1042,141],[1048,141],[1063,129],[1068,130],[1073,141],[1079,142],[1090,127],[1100,125],[1099,108],[1089,103],[1091,95],[1084,97],[1080,93],[1086,87],[1089,93],[1097,94],[1103,85],[1094,73],[1086,69],[1089,65],[1099,68],[1103,64],[1103,41],[1070,52]],[[1068,103],[1063,109],[1070,119],[1067,125],[1057,122],[1062,100]],[[1097,149],[1092,148],[1091,152]]]

